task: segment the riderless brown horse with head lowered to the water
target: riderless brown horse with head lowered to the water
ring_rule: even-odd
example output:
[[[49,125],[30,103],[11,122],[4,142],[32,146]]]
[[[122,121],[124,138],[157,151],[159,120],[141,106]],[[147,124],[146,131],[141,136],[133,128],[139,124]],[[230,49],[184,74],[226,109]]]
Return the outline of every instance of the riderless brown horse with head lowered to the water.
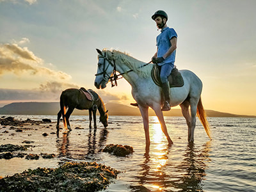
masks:
[[[93,122],[94,122],[94,128],[97,128],[96,124],[96,112],[97,109],[100,113],[100,122],[104,125],[104,127],[108,127],[108,111],[106,111],[104,102],[99,97],[99,95],[95,92],[93,92],[93,95],[97,97],[95,100],[89,100],[87,99],[86,95],[84,95],[84,92],[80,89],[76,88],[69,88],[65,91],[63,91],[60,95],[60,111],[58,113],[58,120],[57,120],[57,131],[60,129],[60,118],[62,115],[63,118],[63,124],[65,129],[72,130],[69,123],[69,117],[71,113],[74,111],[74,109],[89,109],[89,117],[90,117],[90,124],[89,127],[92,128],[92,113],[93,113]],[[68,111],[66,113],[66,109],[68,108]]]

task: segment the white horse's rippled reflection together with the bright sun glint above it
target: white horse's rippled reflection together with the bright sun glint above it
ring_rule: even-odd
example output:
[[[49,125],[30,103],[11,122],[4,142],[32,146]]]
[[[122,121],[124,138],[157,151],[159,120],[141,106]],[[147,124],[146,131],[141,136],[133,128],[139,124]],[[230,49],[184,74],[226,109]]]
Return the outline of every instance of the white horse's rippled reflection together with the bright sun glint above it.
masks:
[[[188,143],[184,152],[175,153],[183,147],[167,147],[160,124],[151,129],[153,142],[145,148],[141,170],[135,177],[140,185],[131,186],[131,191],[203,191],[205,161],[211,161],[211,141],[203,146]]]

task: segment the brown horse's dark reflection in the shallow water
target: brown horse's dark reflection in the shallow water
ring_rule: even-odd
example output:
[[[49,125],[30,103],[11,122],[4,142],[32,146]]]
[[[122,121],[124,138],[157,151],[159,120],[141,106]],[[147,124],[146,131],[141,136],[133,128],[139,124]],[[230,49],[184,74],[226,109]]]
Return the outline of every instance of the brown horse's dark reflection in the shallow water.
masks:
[[[89,128],[87,142],[72,139],[73,132],[64,131],[62,138],[56,139],[56,147],[58,148],[58,157],[64,159],[93,159],[102,147],[104,147],[108,138],[108,130],[106,127],[98,129],[100,132],[97,134],[97,129]],[[65,160],[64,160],[65,161]]]

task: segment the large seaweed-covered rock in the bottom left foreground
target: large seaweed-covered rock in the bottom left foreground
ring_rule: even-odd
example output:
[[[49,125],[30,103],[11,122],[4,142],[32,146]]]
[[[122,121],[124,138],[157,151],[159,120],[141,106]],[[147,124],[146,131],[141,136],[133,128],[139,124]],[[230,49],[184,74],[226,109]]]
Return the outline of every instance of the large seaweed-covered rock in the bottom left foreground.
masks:
[[[0,191],[99,191],[119,172],[97,163],[65,163],[60,168],[37,168],[0,179]]]

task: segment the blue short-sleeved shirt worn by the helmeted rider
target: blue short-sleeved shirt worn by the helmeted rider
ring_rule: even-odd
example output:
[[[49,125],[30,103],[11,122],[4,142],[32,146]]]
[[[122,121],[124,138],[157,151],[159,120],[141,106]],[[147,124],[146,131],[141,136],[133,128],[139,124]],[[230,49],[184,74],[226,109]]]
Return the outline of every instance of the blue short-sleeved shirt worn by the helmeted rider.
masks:
[[[161,30],[161,33],[156,37],[156,45],[157,45],[157,57],[163,56],[168,49],[172,46],[170,40],[176,37],[177,38],[177,33],[173,28],[164,28]],[[172,63],[174,65],[175,61],[175,56],[176,56],[176,50],[172,52],[168,58],[166,58],[162,63],[157,63],[157,65],[161,66],[164,65],[165,63]]]

